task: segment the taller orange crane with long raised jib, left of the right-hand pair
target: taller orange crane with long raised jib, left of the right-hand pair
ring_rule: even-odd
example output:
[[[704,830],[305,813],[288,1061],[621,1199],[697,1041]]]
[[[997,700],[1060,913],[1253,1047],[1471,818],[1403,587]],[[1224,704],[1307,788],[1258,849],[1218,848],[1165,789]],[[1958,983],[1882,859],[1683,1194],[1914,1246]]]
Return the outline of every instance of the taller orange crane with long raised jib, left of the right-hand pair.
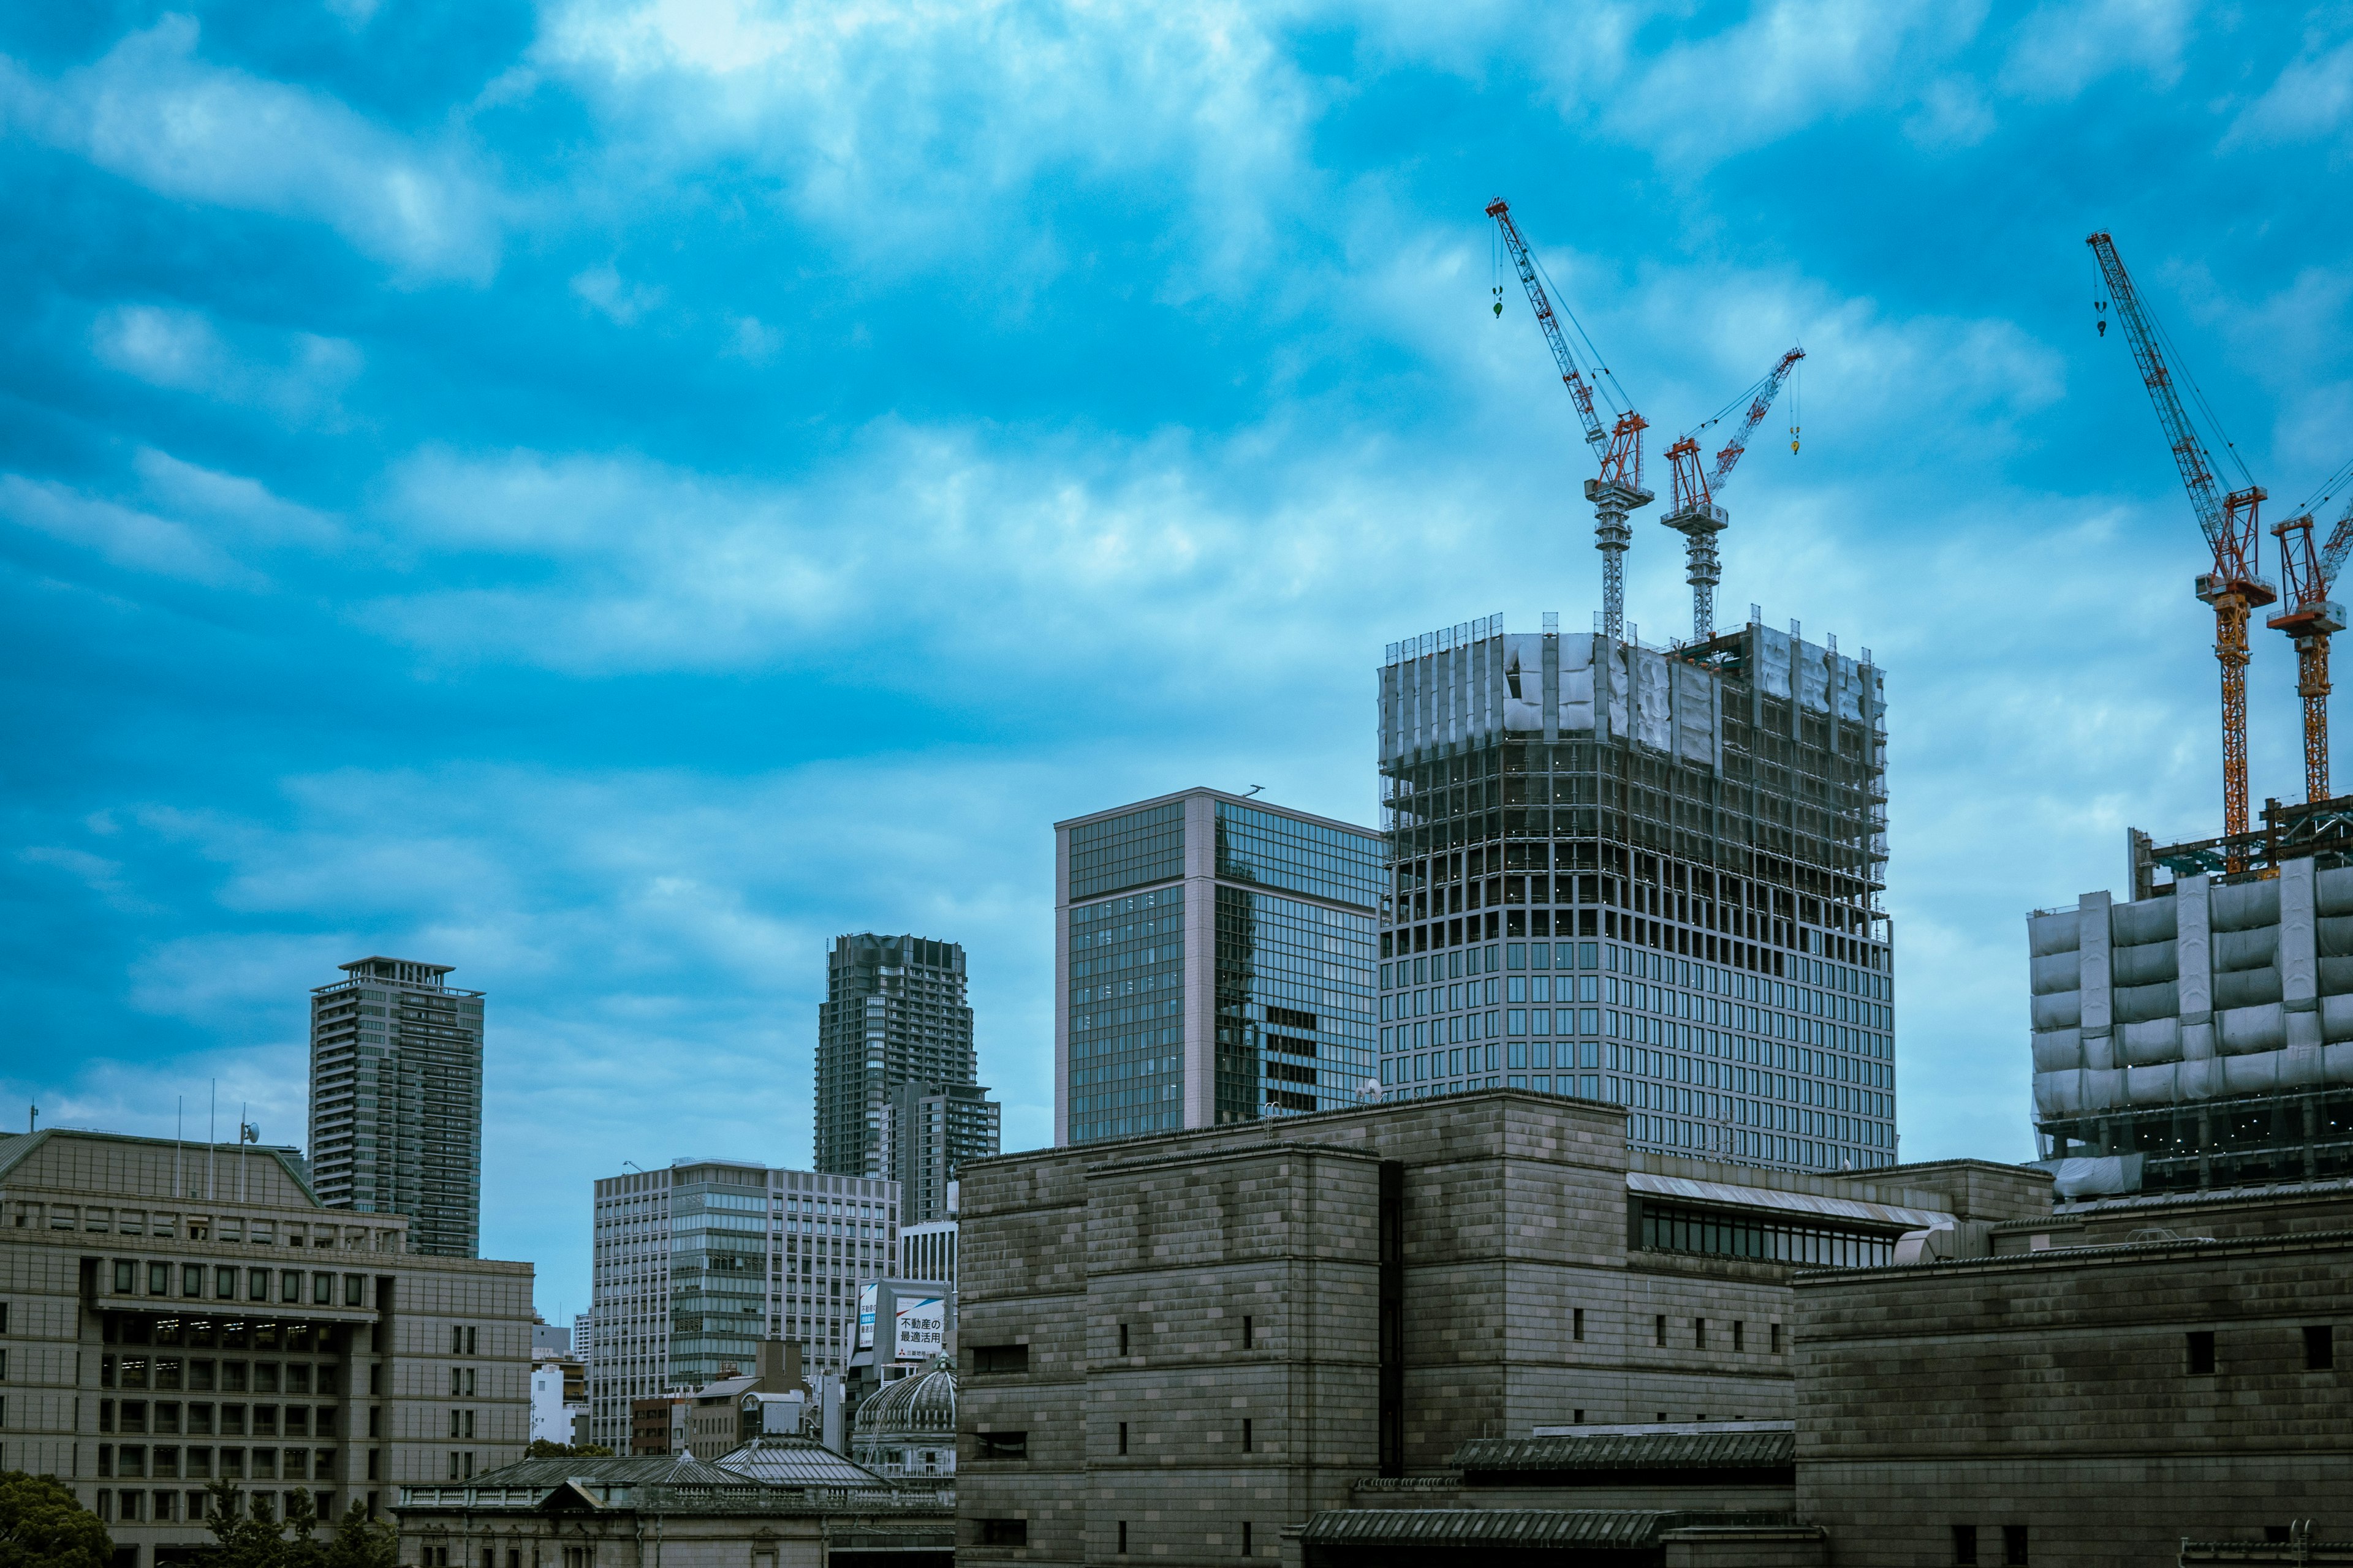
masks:
[[[2264,487],[2240,465],[2245,487],[2228,494],[2214,482],[2214,458],[2207,454],[2181,393],[2165,364],[2160,348],[2162,329],[2132,287],[2132,275],[2115,254],[2115,242],[2106,230],[2089,235],[2085,244],[2099,259],[2108,299],[2115,301],[2115,320],[2132,341],[2132,360],[2141,369],[2148,400],[2158,407],[2158,423],[2174,451],[2174,468],[2181,470],[2181,487],[2191,494],[2191,510],[2198,527],[2214,548],[2214,569],[2198,576],[2198,597],[2214,609],[2214,658],[2221,663],[2221,830],[2226,837],[2247,832],[2247,614],[2271,604],[2280,595],[2261,578],[2261,531],[2257,515],[2264,505]],[[2101,303],[2106,310],[2106,303]],[[2106,324],[2101,324],[2106,334]],[[2214,425],[2212,409],[2191,383],[2200,411]],[[2219,433],[2217,433],[2219,435]],[[2231,442],[2224,440],[2224,451]],[[2233,454],[2233,463],[2235,463]],[[2231,870],[2242,870],[2242,858],[2231,856]]]

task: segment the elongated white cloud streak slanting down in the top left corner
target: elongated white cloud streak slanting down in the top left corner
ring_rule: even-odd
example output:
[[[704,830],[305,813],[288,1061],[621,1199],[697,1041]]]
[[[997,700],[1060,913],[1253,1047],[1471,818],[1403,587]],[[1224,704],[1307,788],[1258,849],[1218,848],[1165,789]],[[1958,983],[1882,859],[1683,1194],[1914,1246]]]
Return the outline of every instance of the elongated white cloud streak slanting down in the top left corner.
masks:
[[[499,263],[499,197],[464,150],[209,66],[193,16],[165,16],[56,82],[0,61],[0,113],[160,195],[325,223],[412,280],[487,282]]]

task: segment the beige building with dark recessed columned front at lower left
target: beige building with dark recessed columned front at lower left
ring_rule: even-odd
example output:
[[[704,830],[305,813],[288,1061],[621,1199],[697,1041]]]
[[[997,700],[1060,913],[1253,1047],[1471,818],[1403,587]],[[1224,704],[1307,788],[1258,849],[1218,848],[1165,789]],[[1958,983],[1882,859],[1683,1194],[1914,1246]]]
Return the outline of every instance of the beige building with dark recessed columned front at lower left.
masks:
[[[52,1474],[118,1568],[209,1544],[205,1486],[325,1514],[529,1441],[532,1265],[407,1251],[285,1147],[0,1138],[0,1467]]]

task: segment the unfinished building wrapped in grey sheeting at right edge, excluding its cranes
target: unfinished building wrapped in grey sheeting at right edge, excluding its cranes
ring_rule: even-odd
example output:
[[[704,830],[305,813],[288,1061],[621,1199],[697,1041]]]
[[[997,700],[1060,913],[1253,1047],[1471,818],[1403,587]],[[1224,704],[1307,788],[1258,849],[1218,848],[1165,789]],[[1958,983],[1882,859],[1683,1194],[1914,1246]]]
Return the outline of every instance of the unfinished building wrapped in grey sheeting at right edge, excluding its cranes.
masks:
[[[2158,846],[2028,917],[2035,1133],[2064,1190],[2353,1175],[2353,797]]]

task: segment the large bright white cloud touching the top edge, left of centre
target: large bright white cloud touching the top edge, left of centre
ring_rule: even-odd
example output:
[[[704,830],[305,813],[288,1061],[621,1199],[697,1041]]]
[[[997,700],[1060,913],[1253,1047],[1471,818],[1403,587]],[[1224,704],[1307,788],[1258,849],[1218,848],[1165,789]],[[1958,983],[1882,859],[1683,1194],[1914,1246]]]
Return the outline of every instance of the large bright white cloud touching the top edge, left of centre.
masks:
[[[612,179],[748,160],[873,266],[969,247],[979,212],[1052,172],[1165,174],[1228,266],[1264,242],[1311,115],[1235,5],[569,0],[534,54],[616,127]],[[1049,235],[1026,266],[1073,247]]]

